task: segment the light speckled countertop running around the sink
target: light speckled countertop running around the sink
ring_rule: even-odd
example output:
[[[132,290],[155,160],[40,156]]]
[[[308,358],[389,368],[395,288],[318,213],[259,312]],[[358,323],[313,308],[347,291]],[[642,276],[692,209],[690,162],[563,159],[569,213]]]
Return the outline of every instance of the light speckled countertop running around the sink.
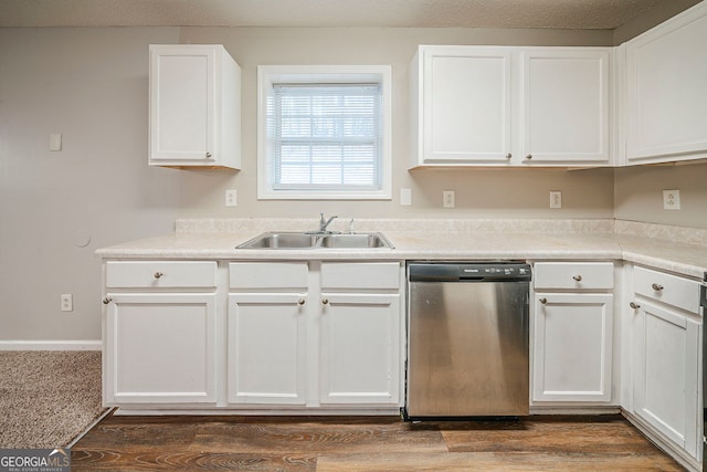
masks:
[[[260,229],[176,232],[99,249],[96,253],[104,259],[191,260],[625,260],[699,280],[707,272],[705,244],[603,229],[549,233],[405,228],[381,231],[394,249],[235,249],[261,232]]]

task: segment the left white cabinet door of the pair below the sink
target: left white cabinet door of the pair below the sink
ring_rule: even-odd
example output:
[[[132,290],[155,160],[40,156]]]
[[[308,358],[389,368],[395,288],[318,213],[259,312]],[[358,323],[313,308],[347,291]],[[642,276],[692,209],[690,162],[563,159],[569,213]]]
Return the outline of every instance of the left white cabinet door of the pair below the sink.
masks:
[[[229,295],[229,402],[304,405],[306,293]]]

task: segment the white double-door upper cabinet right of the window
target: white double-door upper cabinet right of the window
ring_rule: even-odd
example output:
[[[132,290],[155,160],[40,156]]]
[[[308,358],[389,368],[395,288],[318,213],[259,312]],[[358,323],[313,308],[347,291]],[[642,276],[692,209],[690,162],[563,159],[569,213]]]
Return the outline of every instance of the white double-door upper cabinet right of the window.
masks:
[[[609,48],[419,48],[410,167],[608,165]]]

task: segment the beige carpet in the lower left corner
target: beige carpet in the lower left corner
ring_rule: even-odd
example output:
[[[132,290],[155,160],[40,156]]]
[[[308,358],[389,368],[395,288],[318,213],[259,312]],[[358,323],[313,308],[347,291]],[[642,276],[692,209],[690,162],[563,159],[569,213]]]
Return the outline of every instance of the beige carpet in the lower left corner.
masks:
[[[0,352],[0,449],[67,447],[104,411],[101,352]]]

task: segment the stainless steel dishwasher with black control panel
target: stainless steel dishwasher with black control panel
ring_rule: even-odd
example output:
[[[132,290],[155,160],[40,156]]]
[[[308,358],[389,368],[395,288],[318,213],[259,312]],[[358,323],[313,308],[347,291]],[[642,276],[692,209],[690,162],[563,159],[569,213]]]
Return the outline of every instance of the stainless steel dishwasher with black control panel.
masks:
[[[528,415],[530,266],[408,264],[404,416]]]

